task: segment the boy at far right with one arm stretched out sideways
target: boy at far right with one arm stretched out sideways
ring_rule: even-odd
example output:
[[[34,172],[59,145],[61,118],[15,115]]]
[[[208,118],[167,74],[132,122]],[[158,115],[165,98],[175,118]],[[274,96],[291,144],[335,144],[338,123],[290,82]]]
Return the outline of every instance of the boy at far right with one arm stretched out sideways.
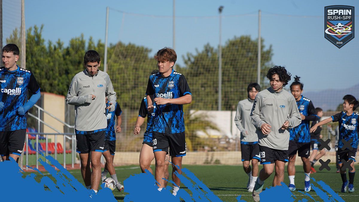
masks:
[[[344,96],[343,100],[343,111],[315,124],[311,128],[311,132],[314,132],[317,127],[330,123],[332,121],[339,122],[339,143],[337,157],[339,160],[339,166],[341,168],[340,175],[343,181],[341,192],[345,193],[348,187],[348,180],[346,179],[346,169],[343,169],[343,160],[347,162],[351,161],[350,166],[352,170],[349,169],[349,192],[354,192],[354,161],[356,157],[356,150],[358,149],[359,114],[354,113],[353,111],[359,106],[359,102],[352,95]],[[348,142],[349,140],[352,140],[350,146],[353,147],[353,149],[351,150],[348,147],[344,147],[344,141]]]

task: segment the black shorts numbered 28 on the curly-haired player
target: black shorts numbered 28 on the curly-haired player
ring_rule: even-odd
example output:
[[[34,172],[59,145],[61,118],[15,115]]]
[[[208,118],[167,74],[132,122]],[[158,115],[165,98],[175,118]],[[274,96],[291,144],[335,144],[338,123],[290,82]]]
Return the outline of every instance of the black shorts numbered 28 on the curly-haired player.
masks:
[[[288,162],[288,150],[276,150],[259,145],[261,164],[274,164],[275,161]]]

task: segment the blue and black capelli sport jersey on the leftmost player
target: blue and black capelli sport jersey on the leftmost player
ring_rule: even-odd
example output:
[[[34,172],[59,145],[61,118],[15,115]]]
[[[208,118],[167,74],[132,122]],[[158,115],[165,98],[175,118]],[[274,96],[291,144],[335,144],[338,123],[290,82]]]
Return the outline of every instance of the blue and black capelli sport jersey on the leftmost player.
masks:
[[[4,102],[4,108],[0,112],[0,131],[25,129],[27,113],[19,115],[17,110],[26,103],[28,91],[35,94],[40,90],[34,75],[19,66],[14,72],[9,72],[2,67],[0,68],[0,87],[0,101]]]

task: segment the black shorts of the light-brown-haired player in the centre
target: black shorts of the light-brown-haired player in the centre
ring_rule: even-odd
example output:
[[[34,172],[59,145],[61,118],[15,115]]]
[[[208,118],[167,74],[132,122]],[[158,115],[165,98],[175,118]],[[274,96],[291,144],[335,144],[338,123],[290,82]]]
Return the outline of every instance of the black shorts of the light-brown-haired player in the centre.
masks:
[[[186,135],[182,133],[152,132],[153,152],[165,151],[170,156],[186,156]]]

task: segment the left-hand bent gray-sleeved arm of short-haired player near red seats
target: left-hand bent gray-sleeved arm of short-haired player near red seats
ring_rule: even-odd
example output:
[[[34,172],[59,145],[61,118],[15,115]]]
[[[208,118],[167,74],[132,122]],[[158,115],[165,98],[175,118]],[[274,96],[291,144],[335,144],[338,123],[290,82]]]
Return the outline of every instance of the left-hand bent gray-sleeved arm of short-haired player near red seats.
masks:
[[[67,96],[65,98],[67,104],[69,105],[90,104],[92,100],[96,97],[95,95],[77,96],[78,91],[79,91],[78,82],[76,80],[72,80],[69,91],[67,91]]]

